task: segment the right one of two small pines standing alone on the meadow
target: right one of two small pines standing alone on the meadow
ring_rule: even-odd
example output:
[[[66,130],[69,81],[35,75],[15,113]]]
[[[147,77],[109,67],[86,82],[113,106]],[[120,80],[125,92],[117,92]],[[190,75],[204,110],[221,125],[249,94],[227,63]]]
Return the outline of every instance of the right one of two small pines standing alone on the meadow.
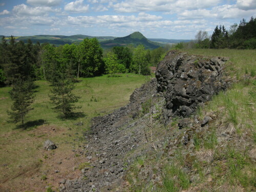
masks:
[[[73,104],[80,98],[72,93],[74,88],[71,79],[66,79],[64,75],[60,75],[58,80],[53,82],[52,95],[49,95],[51,103],[55,105],[53,109],[56,112],[63,113],[65,118],[72,116],[74,109],[80,108]]]

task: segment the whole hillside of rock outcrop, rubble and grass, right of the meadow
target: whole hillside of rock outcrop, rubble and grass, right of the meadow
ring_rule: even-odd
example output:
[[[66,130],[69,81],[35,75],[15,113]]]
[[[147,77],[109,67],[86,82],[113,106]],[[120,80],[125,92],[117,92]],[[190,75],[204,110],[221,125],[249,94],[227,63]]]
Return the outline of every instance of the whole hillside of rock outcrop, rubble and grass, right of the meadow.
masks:
[[[170,51],[128,105],[93,119],[81,176],[59,190],[254,191],[255,66],[238,82],[227,60]]]

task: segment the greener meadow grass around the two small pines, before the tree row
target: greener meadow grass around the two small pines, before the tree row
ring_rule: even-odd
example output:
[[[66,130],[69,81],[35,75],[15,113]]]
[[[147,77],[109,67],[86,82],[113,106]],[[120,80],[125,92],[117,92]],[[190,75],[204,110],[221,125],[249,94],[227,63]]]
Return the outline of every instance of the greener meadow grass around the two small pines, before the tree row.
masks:
[[[52,110],[50,99],[51,86],[46,81],[35,81],[38,88],[35,89],[35,101],[32,104],[34,110],[26,117],[27,121],[43,119],[47,123],[56,126],[70,127],[74,122],[83,121],[89,125],[91,117],[95,115],[104,115],[112,112],[114,109],[125,105],[129,102],[131,93],[135,88],[141,86],[145,77],[136,74],[122,74],[121,77],[107,77],[106,75],[94,78],[80,78],[81,82],[76,83],[74,94],[81,98],[76,105],[82,106],[76,112],[83,112],[86,118],[78,118],[76,120],[63,120]],[[11,99],[8,92],[11,88],[1,88],[0,109],[0,134],[15,129],[16,124],[7,122],[8,115],[6,111],[10,109]],[[91,98],[93,100],[91,101]],[[88,105],[89,104],[89,105]]]

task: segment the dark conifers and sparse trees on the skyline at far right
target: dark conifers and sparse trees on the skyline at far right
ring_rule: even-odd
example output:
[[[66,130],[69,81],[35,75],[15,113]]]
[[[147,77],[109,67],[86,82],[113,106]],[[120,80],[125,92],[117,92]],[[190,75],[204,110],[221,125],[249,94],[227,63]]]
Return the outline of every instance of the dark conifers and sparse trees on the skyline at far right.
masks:
[[[234,23],[229,30],[224,25],[216,26],[211,36],[200,30],[194,41],[181,42],[175,48],[256,49],[256,18],[251,17],[249,22],[242,19],[239,25]]]

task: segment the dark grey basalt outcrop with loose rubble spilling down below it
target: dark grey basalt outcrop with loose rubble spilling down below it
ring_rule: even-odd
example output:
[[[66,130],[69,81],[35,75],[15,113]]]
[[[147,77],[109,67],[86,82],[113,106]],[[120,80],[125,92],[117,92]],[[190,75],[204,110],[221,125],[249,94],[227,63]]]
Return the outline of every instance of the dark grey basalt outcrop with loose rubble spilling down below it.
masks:
[[[153,150],[152,143],[145,138],[147,131],[144,122],[149,117],[148,113],[158,111],[161,117],[153,121],[158,124],[164,122],[166,125],[172,117],[185,118],[195,113],[204,102],[227,88],[227,83],[222,77],[225,61],[225,58],[220,57],[168,52],[159,63],[156,78],[136,89],[129,104],[92,120],[91,133],[85,136],[88,144],[84,145],[88,149],[85,157],[88,163],[82,169],[81,177],[67,180],[65,185],[61,183],[60,191],[108,191],[116,185],[120,187],[126,170],[136,158],[136,149],[139,149],[140,154]],[[153,103],[149,106],[152,110],[147,111],[144,103],[148,100]],[[156,102],[157,104],[154,104]],[[195,124],[185,118],[179,126],[182,129],[192,123]],[[159,151],[164,142],[170,142],[174,138],[173,134],[168,133],[168,129],[164,129],[167,133],[154,138],[154,144]],[[185,135],[183,132],[179,133],[184,145],[194,133],[190,132]],[[144,175],[150,177],[153,172],[148,170]]]

